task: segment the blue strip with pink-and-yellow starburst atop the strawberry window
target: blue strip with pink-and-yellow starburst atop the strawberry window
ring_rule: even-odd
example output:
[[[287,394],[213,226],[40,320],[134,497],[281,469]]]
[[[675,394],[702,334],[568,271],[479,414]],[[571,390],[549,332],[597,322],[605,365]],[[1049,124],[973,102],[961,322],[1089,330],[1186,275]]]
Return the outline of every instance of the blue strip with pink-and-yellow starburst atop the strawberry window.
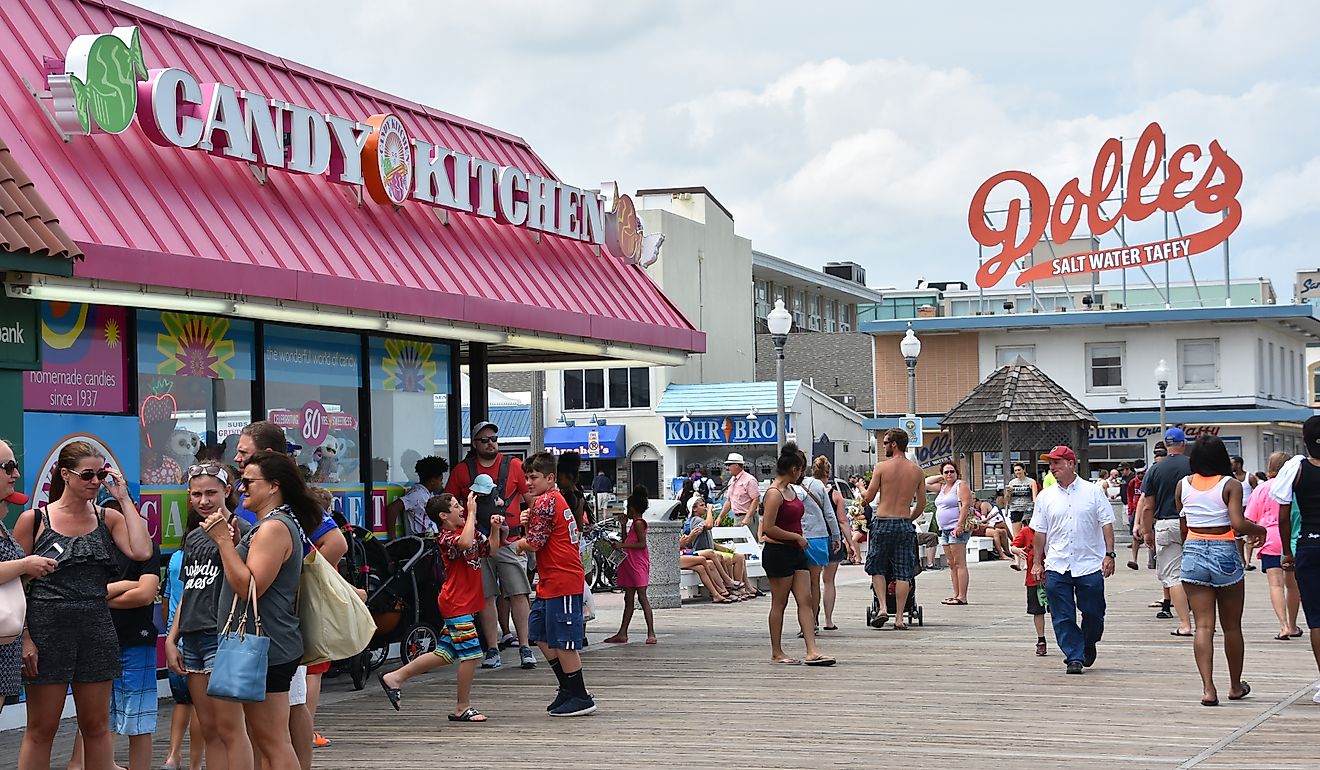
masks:
[[[252,321],[137,312],[137,374],[252,380]]]

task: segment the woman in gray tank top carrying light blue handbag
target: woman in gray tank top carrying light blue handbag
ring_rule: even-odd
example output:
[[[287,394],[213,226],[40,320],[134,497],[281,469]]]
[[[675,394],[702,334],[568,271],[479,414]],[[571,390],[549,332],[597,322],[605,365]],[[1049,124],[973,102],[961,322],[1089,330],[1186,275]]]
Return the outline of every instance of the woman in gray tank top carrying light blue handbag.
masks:
[[[289,683],[302,659],[302,631],[297,613],[302,556],[308,549],[305,531],[321,523],[321,508],[308,495],[297,465],[273,452],[259,453],[243,466],[247,508],[256,524],[239,540],[230,536],[226,515],[216,511],[202,522],[215,542],[224,564],[218,619],[223,627],[234,597],[242,604],[248,581],[256,584],[261,631],[271,638],[265,700],[243,704],[244,720],[255,748],[269,770],[297,770],[298,757],[289,737]],[[248,613],[248,631],[255,633]],[[230,757],[230,767],[235,757]],[[248,765],[251,767],[251,765]]]

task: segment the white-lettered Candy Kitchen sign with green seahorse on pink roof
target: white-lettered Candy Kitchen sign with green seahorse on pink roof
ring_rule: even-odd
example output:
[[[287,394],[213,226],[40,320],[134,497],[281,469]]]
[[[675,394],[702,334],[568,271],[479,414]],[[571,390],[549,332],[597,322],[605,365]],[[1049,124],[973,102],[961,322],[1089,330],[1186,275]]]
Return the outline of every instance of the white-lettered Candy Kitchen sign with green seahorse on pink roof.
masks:
[[[325,177],[384,206],[416,201],[585,240],[628,264],[655,262],[663,240],[644,236],[628,195],[607,209],[595,192],[416,139],[389,112],[345,118],[178,67],[148,70],[136,26],[75,37],[62,62],[46,61],[46,83],[66,135],[123,133],[136,118],[161,147],[252,164],[263,174]]]

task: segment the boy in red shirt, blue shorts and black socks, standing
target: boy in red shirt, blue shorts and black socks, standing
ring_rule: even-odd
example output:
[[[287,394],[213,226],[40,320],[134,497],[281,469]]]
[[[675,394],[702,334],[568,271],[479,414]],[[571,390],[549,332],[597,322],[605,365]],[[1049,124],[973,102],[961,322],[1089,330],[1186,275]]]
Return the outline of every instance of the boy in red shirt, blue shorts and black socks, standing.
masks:
[[[582,680],[582,534],[577,516],[554,485],[556,460],[539,452],[523,462],[527,489],[536,495],[527,516],[527,534],[515,545],[536,553],[536,601],[528,619],[528,639],[550,663],[560,692],[545,709],[550,716],[576,717],[595,711],[595,701]]]

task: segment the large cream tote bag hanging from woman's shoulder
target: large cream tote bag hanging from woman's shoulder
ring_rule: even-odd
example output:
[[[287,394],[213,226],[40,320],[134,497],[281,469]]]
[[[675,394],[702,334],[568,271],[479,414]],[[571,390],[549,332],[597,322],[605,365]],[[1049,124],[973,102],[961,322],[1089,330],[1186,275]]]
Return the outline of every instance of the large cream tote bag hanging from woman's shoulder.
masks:
[[[367,604],[315,548],[302,559],[298,621],[305,664],[352,658],[376,634]]]

